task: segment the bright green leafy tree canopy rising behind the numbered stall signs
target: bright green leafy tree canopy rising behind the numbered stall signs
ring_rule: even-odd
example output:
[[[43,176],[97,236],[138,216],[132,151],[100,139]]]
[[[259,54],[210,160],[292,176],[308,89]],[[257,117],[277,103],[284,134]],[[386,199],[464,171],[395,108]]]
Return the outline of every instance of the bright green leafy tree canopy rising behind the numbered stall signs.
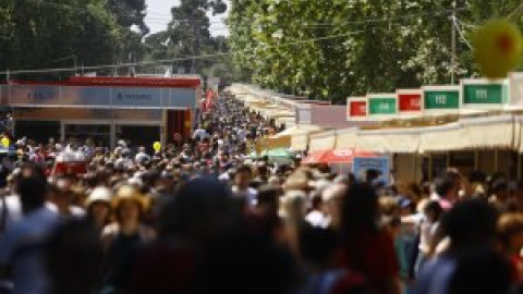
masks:
[[[234,66],[264,87],[337,102],[450,83],[452,2],[233,0],[228,23]],[[458,19],[470,24],[507,15],[519,4],[455,1]],[[467,38],[472,28],[462,29]],[[457,77],[473,75],[470,48],[458,39],[457,49]]]

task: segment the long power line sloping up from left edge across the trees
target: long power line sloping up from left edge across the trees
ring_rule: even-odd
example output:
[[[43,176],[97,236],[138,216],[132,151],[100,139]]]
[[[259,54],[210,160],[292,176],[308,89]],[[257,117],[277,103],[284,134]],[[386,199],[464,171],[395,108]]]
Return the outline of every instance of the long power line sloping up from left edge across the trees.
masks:
[[[357,32],[349,32],[344,34],[338,34],[332,36],[319,37],[319,38],[312,38],[306,40],[297,40],[292,42],[285,44],[278,44],[273,46],[264,46],[263,49],[272,49],[272,48],[280,48],[280,47],[288,47],[293,45],[313,42],[318,40],[326,40],[326,39],[335,39],[344,36],[351,36],[362,33],[363,30]],[[254,49],[244,49],[244,52],[255,51],[257,48]],[[131,68],[131,66],[143,66],[143,65],[156,65],[156,64],[163,64],[163,63],[172,63],[177,61],[187,61],[187,60],[204,60],[217,57],[226,57],[230,56],[232,52],[223,52],[223,53],[214,53],[214,54],[204,54],[204,56],[193,56],[193,57],[185,57],[185,58],[175,58],[175,59],[166,59],[166,60],[156,60],[156,61],[144,61],[144,62],[130,62],[130,63],[121,63],[121,64],[107,64],[107,65],[94,65],[94,66],[83,66],[84,71],[96,71],[96,70],[110,70],[110,69],[121,69],[121,68]],[[4,71],[0,72],[2,75],[7,74],[35,74],[35,73],[58,73],[58,72],[73,72],[77,69],[75,68],[61,68],[61,69],[41,69],[41,70],[15,70],[15,71]]]

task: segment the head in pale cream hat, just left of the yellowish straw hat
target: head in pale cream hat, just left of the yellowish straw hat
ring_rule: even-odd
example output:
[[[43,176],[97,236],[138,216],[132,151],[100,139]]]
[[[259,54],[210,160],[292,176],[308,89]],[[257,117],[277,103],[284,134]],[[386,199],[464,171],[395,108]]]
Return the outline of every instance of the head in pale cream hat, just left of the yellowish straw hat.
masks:
[[[87,222],[101,233],[111,219],[112,192],[108,187],[98,186],[90,192],[85,201]]]

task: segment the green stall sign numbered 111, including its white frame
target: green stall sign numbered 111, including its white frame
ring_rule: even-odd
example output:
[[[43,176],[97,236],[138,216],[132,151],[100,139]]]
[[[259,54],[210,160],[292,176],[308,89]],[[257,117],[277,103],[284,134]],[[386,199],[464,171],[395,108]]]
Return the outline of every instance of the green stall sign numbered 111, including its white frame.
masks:
[[[504,79],[462,79],[463,108],[499,109],[509,100],[509,85]]]

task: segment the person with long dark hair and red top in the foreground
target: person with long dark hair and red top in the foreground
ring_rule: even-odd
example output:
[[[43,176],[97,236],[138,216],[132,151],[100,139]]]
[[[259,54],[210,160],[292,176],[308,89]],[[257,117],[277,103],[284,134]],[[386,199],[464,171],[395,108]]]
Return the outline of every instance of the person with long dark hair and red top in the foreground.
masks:
[[[380,225],[376,191],[368,184],[354,184],[342,200],[342,264],[361,272],[376,293],[400,293],[400,266],[393,240]]]

